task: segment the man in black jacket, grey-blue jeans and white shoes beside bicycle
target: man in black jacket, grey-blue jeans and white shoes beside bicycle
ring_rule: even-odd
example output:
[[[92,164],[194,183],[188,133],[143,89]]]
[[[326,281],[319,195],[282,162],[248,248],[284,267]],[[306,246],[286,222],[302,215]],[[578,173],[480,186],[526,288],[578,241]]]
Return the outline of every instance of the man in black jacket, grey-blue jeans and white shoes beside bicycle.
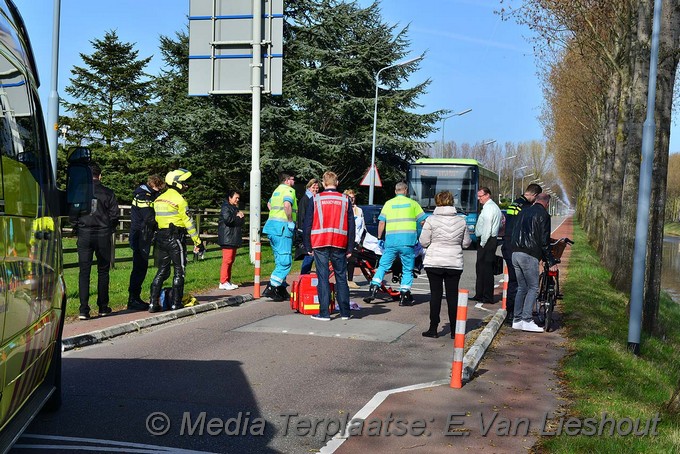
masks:
[[[513,329],[543,332],[533,320],[532,309],[538,293],[539,260],[551,267],[558,263],[550,251],[549,202],[548,194],[538,194],[534,204],[522,210],[512,232],[512,264],[518,284]]]

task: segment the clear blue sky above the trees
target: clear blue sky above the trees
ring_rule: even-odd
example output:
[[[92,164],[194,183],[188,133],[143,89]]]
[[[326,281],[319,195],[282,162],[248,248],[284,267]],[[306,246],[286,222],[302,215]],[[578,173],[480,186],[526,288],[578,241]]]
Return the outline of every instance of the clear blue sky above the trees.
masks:
[[[285,0],[284,0],[285,1]],[[53,0],[15,0],[31,34],[45,103],[49,94]],[[361,5],[370,1],[360,0]],[[61,0],[59,93],[69,83],[70,69],[82,65],[79,53],[92,53],[90,41],[116,30],[136,43],[140,57],[153,55],[148,72],[162,65],[161,35],[173,36],[187,25],[189,0]],[[412,56],[427,52],[411,82],[431,79],[421,110],[450,109],[468,114],[446,121],[445,140],[542,140],[537,119],[543,103],[529,30],[494,14],[498,0],[383,0],[383,18],[409,25]],[[284,49],[285,58],[285,49]],[[441,126],[441,125],[439,125]],[[676,135],[677,136],[677,135]],[[432,134],[440,141],[441,130]],[[671,140],[671,151],[680,151]]]

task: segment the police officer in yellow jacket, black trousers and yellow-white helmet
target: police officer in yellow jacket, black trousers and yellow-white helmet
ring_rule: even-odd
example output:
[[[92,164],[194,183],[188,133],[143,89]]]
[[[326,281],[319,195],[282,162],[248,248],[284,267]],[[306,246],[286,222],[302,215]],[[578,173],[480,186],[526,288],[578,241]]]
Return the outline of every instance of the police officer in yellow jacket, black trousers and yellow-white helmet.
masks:
[[[156,211],[156,248],[158,250],[158,272],[151,283],[151,304],[149,312],[159,312],[163,282],[170,276],[170,265],[174,268],[172,279],[172,309],[182,307],[184,276],[186,271],[186,235],[194,242],[194,252],[204,249],[194,222],[187,214],[187,202],[182,193],[188,188],[191,172],[177,169],[168,172],[165,183],[168,189],[154,202]]]

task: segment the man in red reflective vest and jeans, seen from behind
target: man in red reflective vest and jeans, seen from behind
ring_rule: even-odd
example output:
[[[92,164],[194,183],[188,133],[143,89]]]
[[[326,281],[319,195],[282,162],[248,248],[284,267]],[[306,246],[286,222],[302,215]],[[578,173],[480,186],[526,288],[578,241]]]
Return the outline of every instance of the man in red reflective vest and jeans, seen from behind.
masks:
[[[349,320],[349,286],[347,285],[347,259],[354,249],[354,213],[352,203],[340,193],[338,176],[333,172],[323,174],[324,190],[308,199],[303,224],[303,237],[307,253],[314,255],[316,272],[319,276],[317,291],[319,314],[315,320],[331,319],[328,306],[331,301],[329,263],[335,273],[336,300],[340,316]]]

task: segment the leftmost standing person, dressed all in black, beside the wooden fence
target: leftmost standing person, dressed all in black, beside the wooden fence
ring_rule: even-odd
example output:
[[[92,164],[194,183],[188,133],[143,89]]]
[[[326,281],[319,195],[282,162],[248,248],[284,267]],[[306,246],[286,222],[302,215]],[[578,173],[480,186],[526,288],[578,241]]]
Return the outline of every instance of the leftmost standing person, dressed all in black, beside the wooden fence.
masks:
[[[95,162],[90,163],[94,183],[92,212],[74,221],[78,235],[78,296],[80,320],[90,318],[90,274],[93,255],[97,258],[97,306],[99,315],[111,313],[109,307],[109,270],[113,250],[112,235],[118,223],[118,201],[113,191],[101,183],[102,171]]]

